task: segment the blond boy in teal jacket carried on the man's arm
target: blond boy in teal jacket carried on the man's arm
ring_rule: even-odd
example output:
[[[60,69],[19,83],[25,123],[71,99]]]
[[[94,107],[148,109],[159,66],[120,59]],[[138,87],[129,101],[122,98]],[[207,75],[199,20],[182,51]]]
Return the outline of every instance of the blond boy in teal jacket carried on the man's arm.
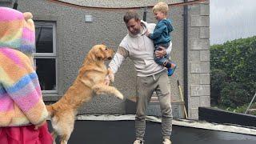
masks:
[[[170,46],[170,32],[173,31],[174,28],[171,26],[170,19],[167,19],[168,10],[168,5],[165,2],[158,2],[158,4],[153,7],[153,13],[158,20],[158,24],[155,26],[154,32],[152,34],[147,33],[146,36],[154,41],[155,50],[162,50],[159,46],[165,49]],[[154,55],[154,60],[159,65],[165,66],[168,70],[168,76],[171,76],[174,74],[176,64],[171,62],[169,57],[169,55],[166,55],[165,57],[157,58]]]

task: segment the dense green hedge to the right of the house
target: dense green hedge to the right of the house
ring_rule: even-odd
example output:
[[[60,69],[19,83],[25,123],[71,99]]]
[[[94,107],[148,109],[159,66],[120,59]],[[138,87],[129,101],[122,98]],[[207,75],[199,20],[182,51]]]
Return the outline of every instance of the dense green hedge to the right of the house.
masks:
[[[256,36],[210,46],[211,103],[249,103],[256,88]]]

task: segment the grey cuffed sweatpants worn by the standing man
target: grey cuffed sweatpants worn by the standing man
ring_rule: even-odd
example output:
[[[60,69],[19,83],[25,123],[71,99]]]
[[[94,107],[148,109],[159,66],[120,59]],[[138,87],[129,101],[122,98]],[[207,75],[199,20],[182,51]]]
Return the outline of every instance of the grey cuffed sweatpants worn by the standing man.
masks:
[[[170,106],[170,84],[166,70],[148,77],[137,77],[137,112],[135,118],[136,139],[143,140],[146,129],[146,107],[156,92],[162,112],[162,136],[170,138],[172,110]]]

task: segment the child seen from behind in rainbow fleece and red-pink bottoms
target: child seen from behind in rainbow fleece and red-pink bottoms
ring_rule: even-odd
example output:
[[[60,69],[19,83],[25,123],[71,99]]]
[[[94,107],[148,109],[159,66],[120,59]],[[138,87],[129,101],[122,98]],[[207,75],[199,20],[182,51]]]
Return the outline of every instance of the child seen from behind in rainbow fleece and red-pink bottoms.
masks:
[[[0,143],[53,143],[34,70],[31,18],[31,13],[0,7]]]

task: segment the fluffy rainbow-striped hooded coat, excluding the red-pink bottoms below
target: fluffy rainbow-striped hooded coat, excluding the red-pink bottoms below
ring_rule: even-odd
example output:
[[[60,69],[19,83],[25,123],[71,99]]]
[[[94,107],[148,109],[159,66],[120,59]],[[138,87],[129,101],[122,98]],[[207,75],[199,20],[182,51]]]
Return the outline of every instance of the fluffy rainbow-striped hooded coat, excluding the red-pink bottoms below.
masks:
[[[0,127],[38,124],[48,116],[31,62],[31,21],[17,10],[0,7]]]

